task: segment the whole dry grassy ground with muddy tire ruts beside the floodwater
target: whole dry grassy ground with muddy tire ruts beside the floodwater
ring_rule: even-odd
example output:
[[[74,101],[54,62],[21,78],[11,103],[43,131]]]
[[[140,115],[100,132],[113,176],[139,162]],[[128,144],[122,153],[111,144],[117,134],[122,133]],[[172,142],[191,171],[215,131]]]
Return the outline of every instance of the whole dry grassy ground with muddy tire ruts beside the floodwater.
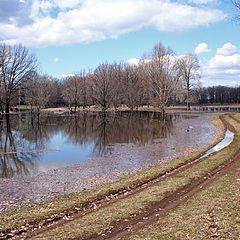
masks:
[[[0,239],[239,239],[240,114],[216,116],[235,133],[118,182],[0,215]]]

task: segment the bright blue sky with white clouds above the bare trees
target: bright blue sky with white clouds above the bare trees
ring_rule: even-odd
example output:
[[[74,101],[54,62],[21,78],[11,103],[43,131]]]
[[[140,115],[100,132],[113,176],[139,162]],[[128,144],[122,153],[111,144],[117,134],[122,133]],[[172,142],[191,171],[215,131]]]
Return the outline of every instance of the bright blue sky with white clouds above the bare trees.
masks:
[[[239,86],[237,14],[230,0],[0,0],[0,42],[22,43],[60,79],[134,62],[161,42],[197,54],[202,86]]]

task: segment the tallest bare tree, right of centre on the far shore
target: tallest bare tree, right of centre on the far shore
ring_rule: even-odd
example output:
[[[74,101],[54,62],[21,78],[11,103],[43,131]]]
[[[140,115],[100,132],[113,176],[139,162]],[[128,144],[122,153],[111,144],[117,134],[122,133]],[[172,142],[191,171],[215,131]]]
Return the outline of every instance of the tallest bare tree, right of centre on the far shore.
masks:
[[[159,43],[154,46],[149,58],[148,62],[142,61],[146,74],[145,82],[164,116],[171,96],[179,87],[176,56],[170,48]]]

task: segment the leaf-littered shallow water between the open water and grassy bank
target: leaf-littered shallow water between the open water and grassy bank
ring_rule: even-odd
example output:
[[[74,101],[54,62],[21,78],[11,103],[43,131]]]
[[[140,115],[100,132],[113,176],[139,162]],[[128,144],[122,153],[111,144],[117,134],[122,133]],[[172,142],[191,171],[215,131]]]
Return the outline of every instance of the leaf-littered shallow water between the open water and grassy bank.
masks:
[[[148,146],[115,144],[111,146],[113,153],[104,157],[36,176],[0,179],[0,212],[113,182],[150,165],[166,164],[177,156],[204,148],[220,134],[210,124],[211,119],[212,116],[203,114],[185,119],[178,123],[175,134]]]

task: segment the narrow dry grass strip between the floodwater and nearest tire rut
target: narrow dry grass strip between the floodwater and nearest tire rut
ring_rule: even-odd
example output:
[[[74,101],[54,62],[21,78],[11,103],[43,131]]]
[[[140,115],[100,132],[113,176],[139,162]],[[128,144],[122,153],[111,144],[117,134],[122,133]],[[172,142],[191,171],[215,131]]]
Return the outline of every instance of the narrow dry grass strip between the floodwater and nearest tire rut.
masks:
[[[215,118],[214,125],[217,129],[223,129],[223,125],[218,117]],[[222,137],[223,134],[217,141],[220,141]],[[211,146],[209,146],[208,148],[210,147]],[[73,193],[60,196],[52,201],[48,201],[43,204],[33,205],[24,209],[1,213],[0,230],[1,232],[6,232],[24,226],[27,223],[31,224],[34,222],[40,222],[45,219],[54,218],[56,215],[64,215],[69,211],[83,209],[84,206],[87,206],[89,203],[93,203],[99,199],[103,199],[105,198],[105,196],[111,197],[111,194],[115,194],[119,191],[125,191],[129,188],[135,188],[168,171],[171,171],[182,163],[190,161],[191,159],[197,157],[201,153],[205,152],[207,149],[204,149],[200,152],[192,153],[189,156],[176,158],[168,165],[147,168],[146,170],[138,174],[124,177],[121,180],[112,184],[105,184],[98,188],[86,190],[81,193]],[[166,186],[168,184],[170,183],[166,183]],[[176,189],[176,187],[174,188],[173,186],[173,189]],[[169,190],[166,190],[164,194],[166,194],[168,191]]]

